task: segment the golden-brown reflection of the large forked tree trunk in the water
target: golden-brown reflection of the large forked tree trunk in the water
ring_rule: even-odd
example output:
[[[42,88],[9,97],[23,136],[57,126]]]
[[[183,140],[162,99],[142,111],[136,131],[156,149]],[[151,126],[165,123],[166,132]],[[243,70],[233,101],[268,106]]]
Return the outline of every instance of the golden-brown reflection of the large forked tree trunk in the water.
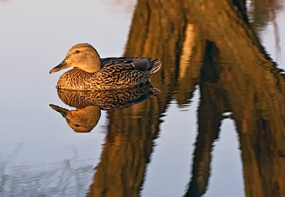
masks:
[[[108,114],[88,196],[139,196],[161,114],[189,102],[199,83],[198,137],[185,196],[205,193],[222,113],[239,134],[246,196],[285,196],[285,81],[250,27],[245,1],[138,0],[125,56],[160,57],[162,94]],[[233,131],[234,132],[234,131]]]

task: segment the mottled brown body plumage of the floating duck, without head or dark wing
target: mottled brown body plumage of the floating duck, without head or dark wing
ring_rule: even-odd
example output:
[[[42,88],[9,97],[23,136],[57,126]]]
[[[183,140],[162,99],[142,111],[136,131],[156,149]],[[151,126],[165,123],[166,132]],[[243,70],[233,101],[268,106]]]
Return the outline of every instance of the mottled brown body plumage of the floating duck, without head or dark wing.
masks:
[[[57,87],[74,90],[108,90],[137,86],[148,81],[152,74],[152,68],[159,69],[161,66],[161,62],[156,59],[150,62],[147,71],[141,72],[135,70],[134,64],[130,63],[130,60],[103,62],[105,64],[102,65],[102,69],[98,73],[88,73],[79,68],[67,71],[58,80]],[[156,67],[153,65],[156,65]]]

